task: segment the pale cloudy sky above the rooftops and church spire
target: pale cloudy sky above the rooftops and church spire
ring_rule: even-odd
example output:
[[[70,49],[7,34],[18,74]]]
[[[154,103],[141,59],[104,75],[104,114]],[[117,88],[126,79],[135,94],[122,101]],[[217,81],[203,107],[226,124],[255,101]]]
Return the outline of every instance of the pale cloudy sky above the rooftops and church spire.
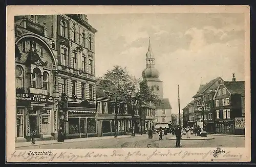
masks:
[[[172,113],[197,93],[200,83],[232,73],[244,80],[244,15],[238,13],[93,14],[96,76],[113,66],[127,67],[141,78],[151,38],[155,67],[163,81],[163,97]]]

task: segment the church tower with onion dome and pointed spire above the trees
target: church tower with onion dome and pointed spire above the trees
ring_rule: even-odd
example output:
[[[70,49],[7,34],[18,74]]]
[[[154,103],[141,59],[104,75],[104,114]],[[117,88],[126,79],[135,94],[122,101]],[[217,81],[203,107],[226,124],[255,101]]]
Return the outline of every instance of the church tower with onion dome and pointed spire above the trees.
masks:
[[[163,84],[162,81],[158,78],[159,72],[155,68],[155,58],[152,52],[150,40],[148,42],[148,49],[146,53],[146,69],[142,72],[142,77],[147,81],[148,87],[156,95],[159,96],[160,99],[163,98]]]

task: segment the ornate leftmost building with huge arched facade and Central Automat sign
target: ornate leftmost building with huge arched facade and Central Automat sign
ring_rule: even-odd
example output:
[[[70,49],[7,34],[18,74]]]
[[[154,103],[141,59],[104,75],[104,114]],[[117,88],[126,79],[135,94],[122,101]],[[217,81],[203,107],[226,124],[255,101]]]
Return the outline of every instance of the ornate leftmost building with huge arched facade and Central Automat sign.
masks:
[[[15,16],[16,141],[57,137],[57,50],[40,16]]]

